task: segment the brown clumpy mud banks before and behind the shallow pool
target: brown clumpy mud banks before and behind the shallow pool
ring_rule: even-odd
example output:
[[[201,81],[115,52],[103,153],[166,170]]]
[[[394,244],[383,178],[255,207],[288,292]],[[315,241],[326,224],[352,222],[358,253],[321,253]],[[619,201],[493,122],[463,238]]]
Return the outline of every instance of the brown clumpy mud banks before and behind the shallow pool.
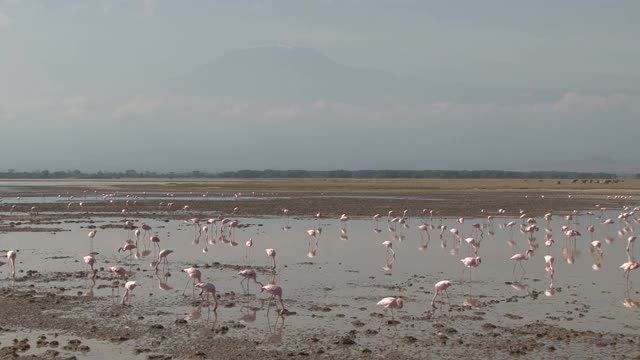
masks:
[[[159,221],[170,221],[184,220],[192,216],[207,218],[218,214],[235,214],[241,217],[281,216],[283,208],[289,209],[290,216],[301,218],[312,218],[317,212],[321,212],[326,218],[336,218],[342,213],[367,218],[374,213],[386,215],[389,210],[404,209],[408,210],[409,216],[415,217],[422,216],[423,209],[437,210],[443,217],[480,217],[496,214],[500,208],[506,209],[510,216],[515,216],[519,209],[526,209],[531,216],[541,216],[548,211],[563,214],[574,209],[593,209],[596,204],[600,207],[618,208],[629,203],[628,198],[613,198],[615,194],[610,191],[575,189],[553,192],[278,192],[260,199],[234,198],[233,193],[224,195],[228,199],[208,200],[194,197],[191,200],[174,201],[170,209],[166,208],[167,200],[145,200],[143,197],[120,197],[112,202],[87,199],[81,208],[76,206],[82,201],[80,197],[69,201],[73,203],[71,206],[66,201],[38,202],[37,197],[34,197],[33,202],[23,199],[22,203],[10,209],[10,198],[5,196],[4,201],[0,203],[0,211],[3,212],[0,217],[0,233],[54,233],[64,231],[64,225],[71,222],[92,228],[95,227],[92,218],[119,218],[122,217],[122,209],[126,209],[130,217],[144,216]],[[635,192],[627,192],[625,195],[635,196]],[[184,205],[188,205],[189,208],[183,209]],[[29,214],[33,207],[37,208],[38,215]],[[481,209],[485,209],[485,212],[481,212]],[[235,264],[211,263],[206,266],[218,267],[220,270],[237,269]],[[5,268],[0,270],[4,271]],[[146,270],[141,271],[144,276],[151,276]],[[634,334],[633,330],[628,333],[578,331],[544,321],[514,323],[512,326],[495,325],[485,318],[486,312],[495,310],[495,304],[490,302],[487,302],[482,311],[473,307],[452,307],[448,313],[441,314],[438,318],[425,317],[424,314],[403,315],[398,319],[398,323],[385,322],[382,330],[372,326],[370,321],[363,322],[363,317],[354,318],[352,330],[340,333],[325,331],[322,326],[314,323],[310,324],[309,330],[304,333],[289,334],[295,339],[294,345],[267,346],[267,340],[251,338],[247,333],[250,331],[249,328],[238,321],[225,320],[212,326],[208,322],[178,321],[177,315],[159,321],[157,319],[161,310],[148,306],[141,312],[132,314],[130,306],[113,304],[105,297],[86,296],[84,289],[78,285],[80,279],[86,280],[82,272],[52,273],[46,269],[23,269],[16,280],[18,289],[12,288],[8,281],[0,283],[0,335],[5,335],[6,338],[7,334],[23,334],[24,329],[29,329],[31,334],[27,341],[31,347],[30,354],[26,354],[27,351],[24,350],[25,341],[20,341],[22,338],[16,335],[17,342],[0,342],[0,359],[54,359],[70,356],[83,358],[92,350],[79,350],[79,346],[92,339],[103,341],[106,347],[126,344],[130,356],[148,359],[413,359],[459,358],[468,357],[469,354],[472,354],[473,358],[527,356],[555,359],[606,356],[640,359],[640,335]],[[46,284],[50,282],[62,285],[46,288]],[[98,287],[110,287],[111,280],[98,278],[97,284]],[[32,289],[27,290],[26,287]],[[428,295],[430,290],[424,293]],[[223,305],[218,311],[225,311],[225,306],[237,306],[238,297],[234,292],[220,294]],[[285,315],[285,322],[286,317],[293,316],[341,315],[338,307],[334,309],[326,305],[311,306],[296,303],[295,300],[288,301],[293,303],[292,308],[296,311]],[[328,310],[323,310],[326,308]],[[375,318],[378,315],[371,313],[368,316]],[[126,326],[122,326],[122,322],[118,321],[122,318],[127,318]],[[431,323],[432,331],[425,331],[422,337],[403,335],[402,330],[412,327],[415,321]],[[394,331],[394,328],[397,330]],[[40,339],[36,335],[38,332],[64,333],[77,337],[80,343],[74,342],[75,348],[71,346],[68,351],[58,352],[57,347],[49,344],[51,339]]]

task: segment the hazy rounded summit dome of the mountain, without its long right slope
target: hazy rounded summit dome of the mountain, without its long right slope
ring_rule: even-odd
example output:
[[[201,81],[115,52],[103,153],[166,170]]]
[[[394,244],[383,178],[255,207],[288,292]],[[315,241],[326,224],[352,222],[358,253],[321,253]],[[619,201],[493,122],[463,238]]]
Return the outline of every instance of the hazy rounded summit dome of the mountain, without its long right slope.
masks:
[[[407,81],[391,73],[336,63],[302,47],[229,52],[172,81],[191,95],[362,102],[405,97]]]

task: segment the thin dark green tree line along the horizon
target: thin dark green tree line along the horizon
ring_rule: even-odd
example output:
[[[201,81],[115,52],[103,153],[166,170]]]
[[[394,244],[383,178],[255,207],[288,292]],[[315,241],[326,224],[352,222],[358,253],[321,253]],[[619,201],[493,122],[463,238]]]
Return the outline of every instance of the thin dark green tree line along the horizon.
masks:
[[[640,179],[640,174],[634,176]],[[504,171],[504,170],[238,170],[225,172],[137,171],[0,171],[0,179],[127,179],[127,178],[225,178],[225,179],[617,179],[606,172]]]

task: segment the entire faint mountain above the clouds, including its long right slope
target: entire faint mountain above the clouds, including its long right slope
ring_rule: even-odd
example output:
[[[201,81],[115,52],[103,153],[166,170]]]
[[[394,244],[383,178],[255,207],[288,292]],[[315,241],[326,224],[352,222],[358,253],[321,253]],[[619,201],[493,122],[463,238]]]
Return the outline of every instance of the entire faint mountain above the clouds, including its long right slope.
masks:
[[[447,74],[439,78],[447,79]],[[314,49],[285,46],[231,51],[173,78],[169,87],[188,95],[323,99],[353,104],[444,99],[517,103],[561,95],[535,89],[477,88],[452,80],[401,78],[386,71],[342,65]]]

